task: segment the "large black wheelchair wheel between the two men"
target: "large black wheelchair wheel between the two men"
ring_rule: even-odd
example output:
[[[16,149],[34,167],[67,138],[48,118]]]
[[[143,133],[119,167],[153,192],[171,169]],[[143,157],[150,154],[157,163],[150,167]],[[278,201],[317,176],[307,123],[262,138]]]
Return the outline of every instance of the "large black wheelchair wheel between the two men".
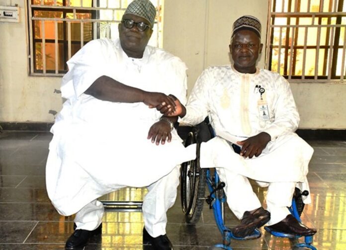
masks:
[[[196,136],[190,132],[187,136],[185,146],[196,143]],[[199,147],[199,143],[197,147]],[[187,223],[197,223],[204,203],[206,169],[199,167],[199,149],[196,160],[181,165],[180,199],[182,211]]]

